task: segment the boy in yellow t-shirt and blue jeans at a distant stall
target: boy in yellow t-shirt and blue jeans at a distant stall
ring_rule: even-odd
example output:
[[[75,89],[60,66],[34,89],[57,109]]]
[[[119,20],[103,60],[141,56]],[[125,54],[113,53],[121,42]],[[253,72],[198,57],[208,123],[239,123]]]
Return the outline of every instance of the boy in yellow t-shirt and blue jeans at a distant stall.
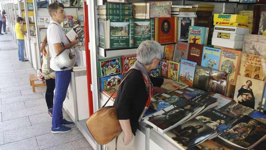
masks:
[[[18,42],[18,60],[21,62],[27,62],[28,60],[24,58],[24,34],[21,23],[23,23],[23,18],[17,17],[17,23],[15,25],[15,32]],[[2,26],[2,25],[1,25]]]

